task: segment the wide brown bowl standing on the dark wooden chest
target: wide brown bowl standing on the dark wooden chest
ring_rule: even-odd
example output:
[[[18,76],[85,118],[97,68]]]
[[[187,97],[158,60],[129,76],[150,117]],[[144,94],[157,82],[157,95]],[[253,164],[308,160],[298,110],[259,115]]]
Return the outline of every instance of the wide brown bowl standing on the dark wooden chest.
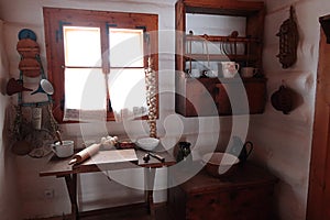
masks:
[[[234,173],[240,160],[229,153],[208,153],[202,156],[207,173],[213,177],[228,177]]]

